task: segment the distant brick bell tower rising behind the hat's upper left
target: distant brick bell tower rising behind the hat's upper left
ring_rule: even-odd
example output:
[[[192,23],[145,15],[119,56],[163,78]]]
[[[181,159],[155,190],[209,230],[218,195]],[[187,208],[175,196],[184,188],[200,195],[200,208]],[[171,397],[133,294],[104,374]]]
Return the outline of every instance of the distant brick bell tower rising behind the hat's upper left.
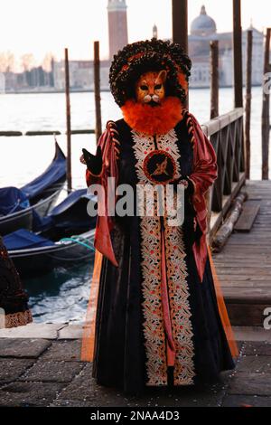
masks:
[[[108,0],[109,58],[128,43],[126,0]]]

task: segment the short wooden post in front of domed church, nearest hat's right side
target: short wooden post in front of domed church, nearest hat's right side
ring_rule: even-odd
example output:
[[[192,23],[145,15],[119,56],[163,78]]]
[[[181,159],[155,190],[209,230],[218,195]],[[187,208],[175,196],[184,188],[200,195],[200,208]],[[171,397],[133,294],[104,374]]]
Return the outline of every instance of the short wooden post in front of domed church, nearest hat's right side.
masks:
[[[219,116],[219,42],[210,42],[210,119]]]

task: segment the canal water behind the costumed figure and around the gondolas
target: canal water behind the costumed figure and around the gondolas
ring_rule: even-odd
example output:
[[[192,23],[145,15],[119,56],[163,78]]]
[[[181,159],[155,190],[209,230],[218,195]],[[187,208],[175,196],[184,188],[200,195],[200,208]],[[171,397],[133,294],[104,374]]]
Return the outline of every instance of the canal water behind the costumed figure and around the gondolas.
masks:
[[[252,90],[251,178],[261,175],[261,88]],[[93,93],[71,93],[71,127],[94,128]],[[101,95],[103,126],[107,119],[121,118],[109,92]],[[220,90],[220,113],[233,107],[233,90]],[[209,120],[210,90],[190,90],[190,110],[203,123]],[[65,96],[50,94],[1,94],[0,130],[65,131]],[[65,152],[66,138],[58,142]],[[73,187],[85,187],[85,168],[79,163],[81,148],[95,152],[94,135],[72,136]],[[40,175],[54,153],[53,137],[0,137],[0,187],[21,186]],[[61,198],[65,192],[61,194]],[[54,269],[39,279],[25,279],[35,322],[72,322],[83,320],[89,298],[92,264],[72,269]]]

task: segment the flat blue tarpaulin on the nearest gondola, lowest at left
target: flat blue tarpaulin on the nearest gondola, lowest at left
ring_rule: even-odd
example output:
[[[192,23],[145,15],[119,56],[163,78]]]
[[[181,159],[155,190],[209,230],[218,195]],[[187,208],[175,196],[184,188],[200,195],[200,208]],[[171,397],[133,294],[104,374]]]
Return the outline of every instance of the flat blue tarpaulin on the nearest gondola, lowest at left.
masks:
[[[27,248],[50,247],[54,245],[53,241],[25,229],[9,233],[3,237],[3,240],[7,250],[24,250]]]

